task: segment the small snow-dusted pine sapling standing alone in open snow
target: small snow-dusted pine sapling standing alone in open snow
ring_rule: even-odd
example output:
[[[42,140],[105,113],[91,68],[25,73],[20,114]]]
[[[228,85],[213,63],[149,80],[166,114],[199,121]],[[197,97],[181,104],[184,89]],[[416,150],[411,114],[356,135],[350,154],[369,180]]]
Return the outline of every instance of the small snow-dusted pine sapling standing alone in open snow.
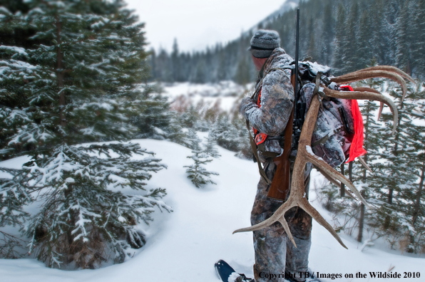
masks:
[[[196,134],[195,130],[190,129],[188,133],[188,139],[190,141],[190,148],[192,149],[191,156],[188,156],[189,159],[192,159],[194,164],[185,165],[188,167],[186,173],[188,174],[188,179],[195,185],[197,188],[202,188],[205,184],[215,184],[213,180],[210,179],[210,175],[218,175],[217,172],[208,172],[203,165],[208,162],[213,162],[213,159],[209,159],[209,155],[202,150],[200,147],[200,139]]]

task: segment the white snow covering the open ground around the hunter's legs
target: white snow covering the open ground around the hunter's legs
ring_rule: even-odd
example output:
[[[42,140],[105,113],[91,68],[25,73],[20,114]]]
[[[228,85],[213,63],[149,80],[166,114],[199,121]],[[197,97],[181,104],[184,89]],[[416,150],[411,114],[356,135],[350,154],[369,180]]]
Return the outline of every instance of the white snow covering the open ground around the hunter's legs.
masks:
[[[200,133],[204,137],[205,133]],[[233,234],[235,229],[250,225],[250,211],[255,197],[259,174],[257,164],[234,157],[235,153],[218,147],[222,157],[208,164],[208,170],[218,172],[210,184],[197,189],[186,178],[184,165],[190,164],[190,150],[172,142],[133,140],[141,147],[156,152],[168,169],[154,174],[148,188],[163,187],[168,195],[164,202],[173,207],[172,213],[156,211],[150,226],[141,226],[148,233],[148,242],[125,263],[96,270],[63,271],[46,268],[31,258],[0,260],[1,282],[203,282],[219,281],[214,263],[222,258],[236,271],[252,277],[254,251],[252,234]],[[19,167],[24,158],[0,162],[4,167]],[[319,174],[313,171],[314,179]],[[313,185],[312,185],[313,186]],[[314,192],[310,199],[314,199]],[[332,219],[318,201],[313,206],[329,222]],[[367,238],[365,238],[367,239]],[[342,278],[322,278],[322,281],[387,281],[370,278],[369,272],[400,273],[390,281],[425,281],[425,259],[394,254],[378,247],[367,247],[342,234],[348,250],[322,226],[314,221],[309,267],[314,273],[340,273]],[[367,278],[356,278],[356,273]],[[404,278],[404,272],[420,274],[420,278]],[[354,278],[345,278],[352,274]],[[411,274],[412,275],[412,274]]]

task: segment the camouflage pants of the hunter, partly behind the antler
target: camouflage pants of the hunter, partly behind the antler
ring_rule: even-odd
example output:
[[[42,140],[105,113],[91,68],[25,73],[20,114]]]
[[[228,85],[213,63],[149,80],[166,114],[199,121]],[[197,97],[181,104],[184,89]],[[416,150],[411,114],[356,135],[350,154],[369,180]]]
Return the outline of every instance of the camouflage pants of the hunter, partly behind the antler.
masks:
[[[266,164],[265,171],[267,177],[272,179],[276,171],[275,164],[269,160]],[[304,174],[307,198],[310,171],[311,164],[307,167],[307,171]],[[257,195],[255,196],[255,202],[251,212],[252,225],[272,216],[276,209],[282,204],[281,202],[268,199],[267,190],[267,184],[261,179],[260,183],[258,183]],[[292,280],[305,280],[303,274],[308,271],[312,217],[302,209],[293,207],[287,211],[285,218],[290,226],[290,231],[292,236],[294,236],[297,248],[295,248],[290,239],[287,238],[282,225],[278,222],[265,229],[254,231],[255,282],[283,282],[285,281],[285,273],[287,273],[287,275],[290,273]]]

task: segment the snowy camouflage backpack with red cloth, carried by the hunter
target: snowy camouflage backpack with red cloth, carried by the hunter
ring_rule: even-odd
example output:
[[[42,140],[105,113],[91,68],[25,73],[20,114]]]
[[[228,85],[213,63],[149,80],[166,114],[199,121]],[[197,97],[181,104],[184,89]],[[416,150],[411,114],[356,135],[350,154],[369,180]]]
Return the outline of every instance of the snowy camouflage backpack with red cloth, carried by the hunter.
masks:
[[[330,75],[330,68],[327,66],[309,61],[299,63],[299,83],[301,84],[299,100],[297,101],[299,124],[302,125],[304,122],[312,98],[314,94],[319,92],[321,107],[312,135],[312,151],[331,167],[337,167],[347,160],[347,157],[351,161],[366,152],[362,148],[362,115],[359,112],[357,100],[327,98],[321,91],[317,91],[319,88],[316,87],[315,82],[318,74],[321,76],[322,82],[328,84],[329,88],[334,90],[352,90],[352,88],[350,86],[339,86],[336,83],[326,83]],[[260,99],[258,99],[258,103],[259,101]],[[359,126],[361,128],[357,128]],[[282,135],[280,136],[280,147],[284,147]],[[258,150],[265,157],[279,155],[270,150],[273,147],[270,144],[276,142],[276,137],[270,137],[255,130],[254,139]],[[353,142],[356,146],[352,147]],[[293,152],[291,155],[295,154],[296,152]]]

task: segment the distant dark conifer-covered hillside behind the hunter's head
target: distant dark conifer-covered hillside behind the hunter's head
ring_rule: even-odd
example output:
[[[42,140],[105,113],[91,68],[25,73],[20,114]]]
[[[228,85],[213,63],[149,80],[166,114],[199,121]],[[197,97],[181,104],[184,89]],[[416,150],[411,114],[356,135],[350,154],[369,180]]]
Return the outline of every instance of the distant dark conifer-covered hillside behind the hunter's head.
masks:
[[[300,1],[300,58],[332,66],[334,74],[357,71],[371,61],[401,68],[414,77],[425,73],[425,0]],[[281,46],[295,55],[295,11],[259,23],[280,33]],[[252,31],[206,51],[153,52],[153,78],[164,82],[247,83],[256,73],[246,51]]]

